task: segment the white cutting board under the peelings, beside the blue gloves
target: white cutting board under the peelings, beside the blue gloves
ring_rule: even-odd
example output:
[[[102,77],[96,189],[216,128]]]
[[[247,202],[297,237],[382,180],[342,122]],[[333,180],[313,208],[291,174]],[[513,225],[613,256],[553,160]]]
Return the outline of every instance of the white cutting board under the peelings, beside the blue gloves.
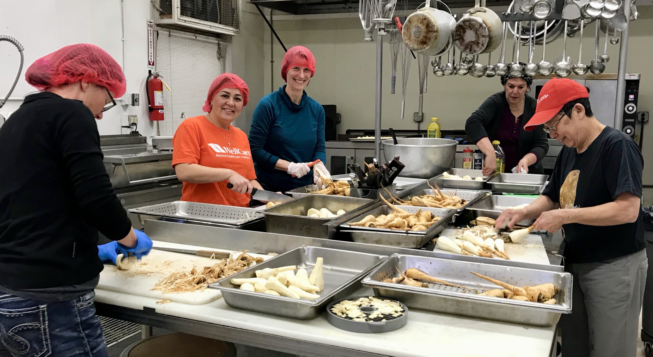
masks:
[[[157,244],[155,243],[155,247]],[[167,244],[170,246],[170,244]],[[186,249],[196,249],[199,247],[185,246],[185,245],[175,245],[179,248]],[[219,250],[215,248],[203,248],[207,250],[218,250],[231,252],[229,250]],[[261,256],[258,254],[251,254],[252,256]],[[272,258],[270,256],[261,256],[262,258]],[[220,290],[206,288],[204,290],[197,290],[194,292],[183,292],[183,293],[168,293],[164,294],[159,290],[151,290],[151,288],[159,280],[167,277],[173,271],[189,271],[193,267],[197,267],[198,270],[202,269],[205,266],[211,266],[217,264],[220,260],[204,258],[200,256],[195,256],[193,254],[177,253],[177,252],[168,252],[166,250],[157,250],[152,249],[150,254],[144,256],[141,260],[142,263],[147,263],[146,265],[141,265],[136,269],[143,269],[147,271],[154,271],[161,269],[161,271],[150,273],[149,275],[134,275],[130,271],[123,271],[118,269],[114,265],[104,265],[104,270],[100,273],[100,282],[97,284],[97,288],[103,290],[110,290],[114,292],[122,292],[126,294],[134,294],[137,296],[144,296],[146,298],[154,298],[159,300],[171,300],[178,303],[187,303],[191,305],[200,305],[205,303],[210,303],[215,299],[222,297]],[[164,263],[167,262],[167,263]],[[169,262],[169,264],[168,264]],[[134,268],[131,268],[134,269]]]

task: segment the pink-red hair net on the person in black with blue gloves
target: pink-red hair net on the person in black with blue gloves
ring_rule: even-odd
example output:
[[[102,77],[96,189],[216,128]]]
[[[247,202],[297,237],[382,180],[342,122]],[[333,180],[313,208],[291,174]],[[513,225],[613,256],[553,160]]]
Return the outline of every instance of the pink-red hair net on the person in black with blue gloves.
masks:
[[[78,43],[37,59],[25,71],[27,83],[39,90],[79,82],[106,87],[114,97],[127,90],[120,65],[95,44]]]

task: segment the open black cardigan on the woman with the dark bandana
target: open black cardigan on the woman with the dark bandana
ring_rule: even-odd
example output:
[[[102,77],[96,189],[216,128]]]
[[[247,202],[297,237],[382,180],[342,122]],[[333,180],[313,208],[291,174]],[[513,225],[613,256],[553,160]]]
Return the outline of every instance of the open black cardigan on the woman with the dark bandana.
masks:
[[[494,93],[485,99],[483,104],[475,112],[471,113],[470,117],[465,123],[465,131],[471,141],[476,143],[483,137],[488,137],[490,141],[496,137],[496,131],[503,115],[503,110],[508,105],[505,99],[505,91]],[[537,153],[539,160],[534,165],[528,167],[528,173],[543,173],[542,159],[549,151],[549,142],[547,133],[543,130],[542,126],[537,126],[534,131],[526,131],[524,127],[528,120],[535,114],[535,105],[537,101],[532,97],[526,95],[524,99],[524,114],[522,114],[522,130],[519,133],[519,149],[518,154],[520,158],[529,152]]]

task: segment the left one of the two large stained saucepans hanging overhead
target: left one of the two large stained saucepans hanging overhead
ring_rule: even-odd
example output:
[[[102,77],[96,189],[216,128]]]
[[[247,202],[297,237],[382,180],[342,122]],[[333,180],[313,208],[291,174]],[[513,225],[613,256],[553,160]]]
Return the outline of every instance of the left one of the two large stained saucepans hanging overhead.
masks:
[[[430,0],[427,0],[425,7],[406,18],[402,39],[406,47],[415,52],[426,56],[439,56],[451,46],[453,16],[430,5]]]

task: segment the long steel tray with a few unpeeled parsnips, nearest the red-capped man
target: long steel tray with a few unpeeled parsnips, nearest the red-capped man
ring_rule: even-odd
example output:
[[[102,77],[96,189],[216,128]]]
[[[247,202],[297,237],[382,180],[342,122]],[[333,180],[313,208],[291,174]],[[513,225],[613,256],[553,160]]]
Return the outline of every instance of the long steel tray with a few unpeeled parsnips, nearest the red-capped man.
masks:
[[[551,282],[560,286],[561,291],[554,296],[556,305],[545,305],[530,301],[479,296],[473,291],[441,284],[430,283],[428,288],[422,288],[383,282],[384,279],[398,277],[399,273],[395,267],[400,271],[414,267],[433,277],[469,288],[483,287],[486,290],[499,288],[470,273],[474,271],[517,286]],[[515,324],[553,326],[560,319],[561,313],[571,313],[571,281],[572,277],[569,273],[392,254],[383,264],[370,272],[362,283],[374,288],[375,295],[402,301],[411,309]]]

